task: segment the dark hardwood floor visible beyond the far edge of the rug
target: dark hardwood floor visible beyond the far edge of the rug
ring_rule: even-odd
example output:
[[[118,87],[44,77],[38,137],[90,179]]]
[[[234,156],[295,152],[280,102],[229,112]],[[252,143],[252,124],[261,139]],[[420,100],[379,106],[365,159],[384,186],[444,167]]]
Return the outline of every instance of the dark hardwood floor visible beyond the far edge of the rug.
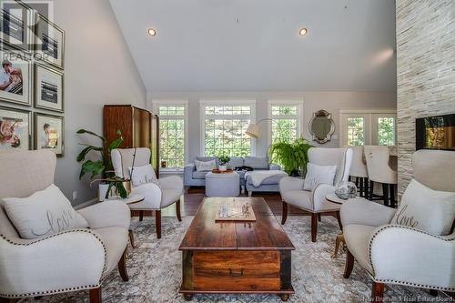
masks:
[[[248,197],[248,195],[240,195],[241,197]],[[253,197],[264,197],[268,207],[272,210],[274,215],[281,216],[281,196],[279,193],[256,193]],[[188,189],[188,192],[184,195],[181,200],[181,215],[182,216],[194,216],[196,215],[197,209],[204,199],[204,187],[192,187]],[[139,216],[138,213],[133,212],[133,216]],[[151,211],[144,212],[144,216],[152,216]],[[297,207],[288,207],[288,216],[308,216],[308,212],[301,210]],[[176,204],[161,210],[162,217],[176,217]]]

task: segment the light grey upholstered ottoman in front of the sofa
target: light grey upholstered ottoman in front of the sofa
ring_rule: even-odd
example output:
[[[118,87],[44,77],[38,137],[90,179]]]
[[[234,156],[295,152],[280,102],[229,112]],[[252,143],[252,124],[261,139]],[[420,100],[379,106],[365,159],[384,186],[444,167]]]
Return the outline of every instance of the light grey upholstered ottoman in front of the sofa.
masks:
[[[206,175],[207,197],[238,197],[240,194],[240,177],[238,173]]]

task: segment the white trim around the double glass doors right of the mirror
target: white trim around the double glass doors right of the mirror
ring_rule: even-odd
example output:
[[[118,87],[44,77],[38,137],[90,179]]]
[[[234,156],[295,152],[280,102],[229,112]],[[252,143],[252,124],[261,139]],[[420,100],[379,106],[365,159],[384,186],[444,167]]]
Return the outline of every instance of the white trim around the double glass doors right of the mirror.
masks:
[[[346,128],[346,123],[343,119],[343,116],[344,115],[349,115],[349,114],[352,114],[352,115],[356,115],[356,114],[359,114],[359,115],[363,115],[363,116],[367,116],[368,117],[368,131],[364,134],[365,137],[368,137],[369,139],[369,142],[365,142],[365,145],[373,145],[375,143],[375,140],[373,138],[373,132],[374,130],[378,127],[378,126],[374,126],[374,121],[373,121],[373,118],[375,116],[381,116],[381,115],[384,115],[384,116],[393,116],[395,117],[395,125],[394,125],[394,135],[393,135],[393,139],[394,139],[394,145],[393,146],[397,146],[398,144],[398,141],[397,141],[397,110],[396,109],[340,109],[339,110],[339,146],[340,147],[343,147],[343,146],[347,146],[347,142],[346,141],[346,137],[345,137],[345,134],[344,134],[344,131],[345,131],[345,128]],[[368,141],[368,140],[366,140]],[[377,143],[377,142],[376,142]]]

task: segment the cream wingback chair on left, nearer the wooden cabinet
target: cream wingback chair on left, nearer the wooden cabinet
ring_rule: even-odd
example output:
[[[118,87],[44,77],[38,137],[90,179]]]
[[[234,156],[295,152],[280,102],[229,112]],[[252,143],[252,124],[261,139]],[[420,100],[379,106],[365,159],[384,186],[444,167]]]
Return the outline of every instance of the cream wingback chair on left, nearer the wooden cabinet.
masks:
[[[146,147],[113,149],[111,152],[112,164],[116,171],[116,176],[129,178],[129,167],[133,167],[133,158],[136,152],[135,167],[147,166],[150,164],[150,149]],[[133,171],[134,174],[134,171]],[[154,173],[155,174],[155,173]],[[131,187],[131,193],[144,197],[139,203],[128,205],[131,210],[137,210],[140,213],[139,220],[146,210],[154,210],[156,217],[157,237],[161,237],[161,208],[168,207],[176,203],[177,219],[182,220],[180,216],[180,197],[183,193],[183,181],[181,177],[171,176],[157,179],[155,181],[142,184],[137,187]]]

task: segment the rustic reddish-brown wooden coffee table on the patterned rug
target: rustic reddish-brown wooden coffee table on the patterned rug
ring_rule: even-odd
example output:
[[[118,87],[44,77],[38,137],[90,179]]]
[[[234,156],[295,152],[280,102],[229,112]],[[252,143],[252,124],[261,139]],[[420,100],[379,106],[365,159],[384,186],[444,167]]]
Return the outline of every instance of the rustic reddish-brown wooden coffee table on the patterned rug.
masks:
[[[236,200],[236,202],[234,202]],[[223,203],[249,202],[255,222],[215,222]],[[194,294],[294,293],[291,250],[295,249],[262,197],[206,197],[182,240],[182,286]]]

